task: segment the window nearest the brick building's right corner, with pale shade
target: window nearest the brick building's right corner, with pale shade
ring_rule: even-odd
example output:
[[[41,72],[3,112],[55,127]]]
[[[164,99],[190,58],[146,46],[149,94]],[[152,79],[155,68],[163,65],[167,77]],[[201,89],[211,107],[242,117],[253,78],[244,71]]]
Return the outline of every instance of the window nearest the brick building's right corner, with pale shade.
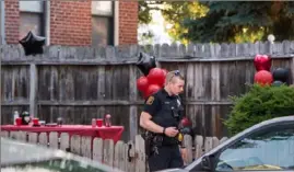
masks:
[[[114,45],[114,2],[92,1],[92,45]]]

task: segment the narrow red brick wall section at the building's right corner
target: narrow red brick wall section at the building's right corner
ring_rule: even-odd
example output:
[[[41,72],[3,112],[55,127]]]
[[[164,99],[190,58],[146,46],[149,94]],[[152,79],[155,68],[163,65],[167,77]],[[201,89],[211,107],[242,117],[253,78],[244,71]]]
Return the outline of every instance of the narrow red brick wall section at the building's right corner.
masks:
[[[119,1],[119,44],[137,44],[138,2]]]

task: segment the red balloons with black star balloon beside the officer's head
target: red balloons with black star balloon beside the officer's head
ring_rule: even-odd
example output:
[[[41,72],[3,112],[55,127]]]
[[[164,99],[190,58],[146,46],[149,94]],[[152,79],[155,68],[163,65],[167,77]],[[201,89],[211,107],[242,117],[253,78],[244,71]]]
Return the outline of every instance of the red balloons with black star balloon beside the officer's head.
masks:
[[[137,79],[137,88],[146,99],[164,87],[166,69],[156,67],[155,58],[144,53],[140,53],[137,67],[144,76]]]

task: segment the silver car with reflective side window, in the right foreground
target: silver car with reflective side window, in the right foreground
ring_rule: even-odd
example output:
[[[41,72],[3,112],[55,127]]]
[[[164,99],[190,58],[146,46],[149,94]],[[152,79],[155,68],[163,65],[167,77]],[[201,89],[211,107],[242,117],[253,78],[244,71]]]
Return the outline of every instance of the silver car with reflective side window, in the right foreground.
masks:
[[[227,139],[184,169],[161,172],[294,172],[294,115],[264,121]]]

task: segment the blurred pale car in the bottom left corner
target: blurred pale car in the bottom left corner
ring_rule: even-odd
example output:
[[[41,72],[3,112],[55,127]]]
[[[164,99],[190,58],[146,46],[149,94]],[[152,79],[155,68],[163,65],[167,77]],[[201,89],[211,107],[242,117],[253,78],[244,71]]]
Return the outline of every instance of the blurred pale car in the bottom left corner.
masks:
[[[1,172],[122,172],[62,150],[1,138]]]

